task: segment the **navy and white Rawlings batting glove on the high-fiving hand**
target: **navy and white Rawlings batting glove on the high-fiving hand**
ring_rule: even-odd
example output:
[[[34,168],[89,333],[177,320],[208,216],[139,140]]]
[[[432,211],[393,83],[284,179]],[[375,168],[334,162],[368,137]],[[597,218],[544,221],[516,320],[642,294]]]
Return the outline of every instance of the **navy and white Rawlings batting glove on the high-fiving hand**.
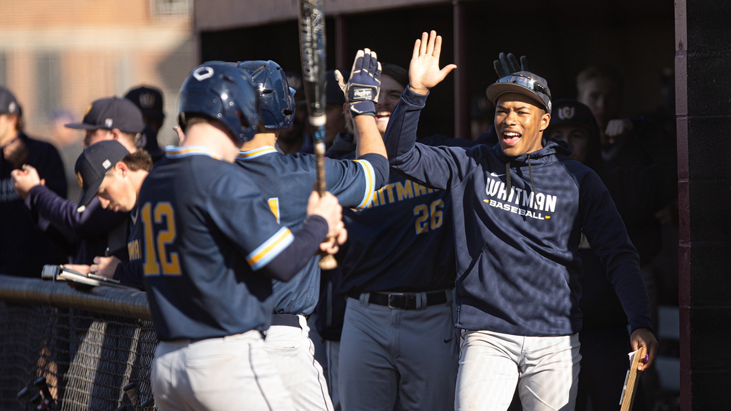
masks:
[[[352,116],[376,116],[375,103],[381,91],[381,63],[375,51],[367,48],[358,50],[347,83],[339,70],[335,70],[335,78],[345,94]]]

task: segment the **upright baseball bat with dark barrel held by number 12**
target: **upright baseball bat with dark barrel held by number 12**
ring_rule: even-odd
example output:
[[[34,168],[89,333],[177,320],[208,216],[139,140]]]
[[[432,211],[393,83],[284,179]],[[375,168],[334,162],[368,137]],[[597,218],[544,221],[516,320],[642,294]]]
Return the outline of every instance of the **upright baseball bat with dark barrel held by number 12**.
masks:
[[[302,80],[307,100],[307,112],[312,127],[315,159],[317,160],[317,192],[325,195],[325,13],[322,0],[299,0],[300,56]],[[319,261],[325,270],[338,263],[330,254]]]

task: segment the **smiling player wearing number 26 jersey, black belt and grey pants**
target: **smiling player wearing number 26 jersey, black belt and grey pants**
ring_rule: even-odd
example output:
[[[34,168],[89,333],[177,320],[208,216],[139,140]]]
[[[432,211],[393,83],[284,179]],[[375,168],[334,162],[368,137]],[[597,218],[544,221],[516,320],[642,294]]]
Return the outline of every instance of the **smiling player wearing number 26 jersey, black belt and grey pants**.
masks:
[[[381,80],[376,115],[385,132],[408,75],[385,65]],[[452,407],[458,337],[451,201],[444,190],[390,173],[367,208],[344,211],[352,235],[336,284],[347,295],[337,353],[343,410]]]

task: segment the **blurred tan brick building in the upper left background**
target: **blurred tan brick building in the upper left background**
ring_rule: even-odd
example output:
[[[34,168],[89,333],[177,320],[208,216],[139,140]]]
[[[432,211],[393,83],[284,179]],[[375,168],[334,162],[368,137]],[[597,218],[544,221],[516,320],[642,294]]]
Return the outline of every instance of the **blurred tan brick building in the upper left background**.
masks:
[[[162,88],[164,127],[173,126],[178,89],[197,63],[192,7],[162,15],[153,11],[154,0],[5,3],[0,13],[5,61],[0,83],[23,105],[29,134],[53,140],[54,110],[69,110],[79,120],[94,99],[123,95],[143,83]],[[176,139],[169,131],[162,132],[161,140],[165,145]]]

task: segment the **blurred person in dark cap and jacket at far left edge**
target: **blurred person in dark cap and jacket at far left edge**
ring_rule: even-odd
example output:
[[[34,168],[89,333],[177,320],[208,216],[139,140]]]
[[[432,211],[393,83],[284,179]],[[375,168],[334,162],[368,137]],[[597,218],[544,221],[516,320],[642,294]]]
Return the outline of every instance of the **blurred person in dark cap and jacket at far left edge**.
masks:
[[[66,195],[64,165],[50,143],[34,140],[23,132],[23,109],[10,90],[0,87],[0,273],[40,276],[44,264],[66,263],[67,256],[41,233],[12,178],[23,166],[37,167],[40,184],[55,195]],[[51,235],[51,233],[48,233]]]

